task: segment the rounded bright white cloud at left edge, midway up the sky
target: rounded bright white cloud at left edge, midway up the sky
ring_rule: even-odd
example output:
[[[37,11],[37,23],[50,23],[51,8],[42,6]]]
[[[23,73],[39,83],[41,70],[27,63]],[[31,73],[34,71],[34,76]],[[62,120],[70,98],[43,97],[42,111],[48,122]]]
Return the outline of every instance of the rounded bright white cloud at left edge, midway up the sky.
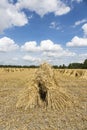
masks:
[[[18,48],[19,46],[15,44],[15,42],[12,39],[8,37],[3,37],[0,39],[0,52],[14,51]]]

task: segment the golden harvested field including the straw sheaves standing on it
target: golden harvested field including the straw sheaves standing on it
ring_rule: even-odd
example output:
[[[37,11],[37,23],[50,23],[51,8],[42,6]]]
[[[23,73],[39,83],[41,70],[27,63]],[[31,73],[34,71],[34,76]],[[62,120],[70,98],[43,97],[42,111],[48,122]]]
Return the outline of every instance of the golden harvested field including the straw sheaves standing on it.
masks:
[[[87,70],[0,68],[0,130],[86,129]]]

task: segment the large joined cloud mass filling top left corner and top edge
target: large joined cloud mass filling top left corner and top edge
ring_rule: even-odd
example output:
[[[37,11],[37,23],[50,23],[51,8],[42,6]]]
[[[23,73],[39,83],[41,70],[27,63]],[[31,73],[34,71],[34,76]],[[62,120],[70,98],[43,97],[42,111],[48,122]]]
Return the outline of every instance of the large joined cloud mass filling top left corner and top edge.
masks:
[[[48,13],[55,15],[67,14],[70,7],[61,0],[0,0],[0,33],[13,26],[24,26],[28,23],[29,17],[23,9],[36,12],[41,17]]]

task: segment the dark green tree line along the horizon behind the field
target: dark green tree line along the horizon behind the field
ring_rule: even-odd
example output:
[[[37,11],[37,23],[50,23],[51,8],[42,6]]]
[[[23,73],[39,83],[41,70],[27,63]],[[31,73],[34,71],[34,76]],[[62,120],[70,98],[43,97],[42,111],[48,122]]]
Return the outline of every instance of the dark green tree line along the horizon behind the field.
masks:
[[[36,65],[0,65],[0,68],[38,68]],[[83,63],[70,63],[68,66],[63,65],[53,65],[55,69],[87,69],[87,59]]]

